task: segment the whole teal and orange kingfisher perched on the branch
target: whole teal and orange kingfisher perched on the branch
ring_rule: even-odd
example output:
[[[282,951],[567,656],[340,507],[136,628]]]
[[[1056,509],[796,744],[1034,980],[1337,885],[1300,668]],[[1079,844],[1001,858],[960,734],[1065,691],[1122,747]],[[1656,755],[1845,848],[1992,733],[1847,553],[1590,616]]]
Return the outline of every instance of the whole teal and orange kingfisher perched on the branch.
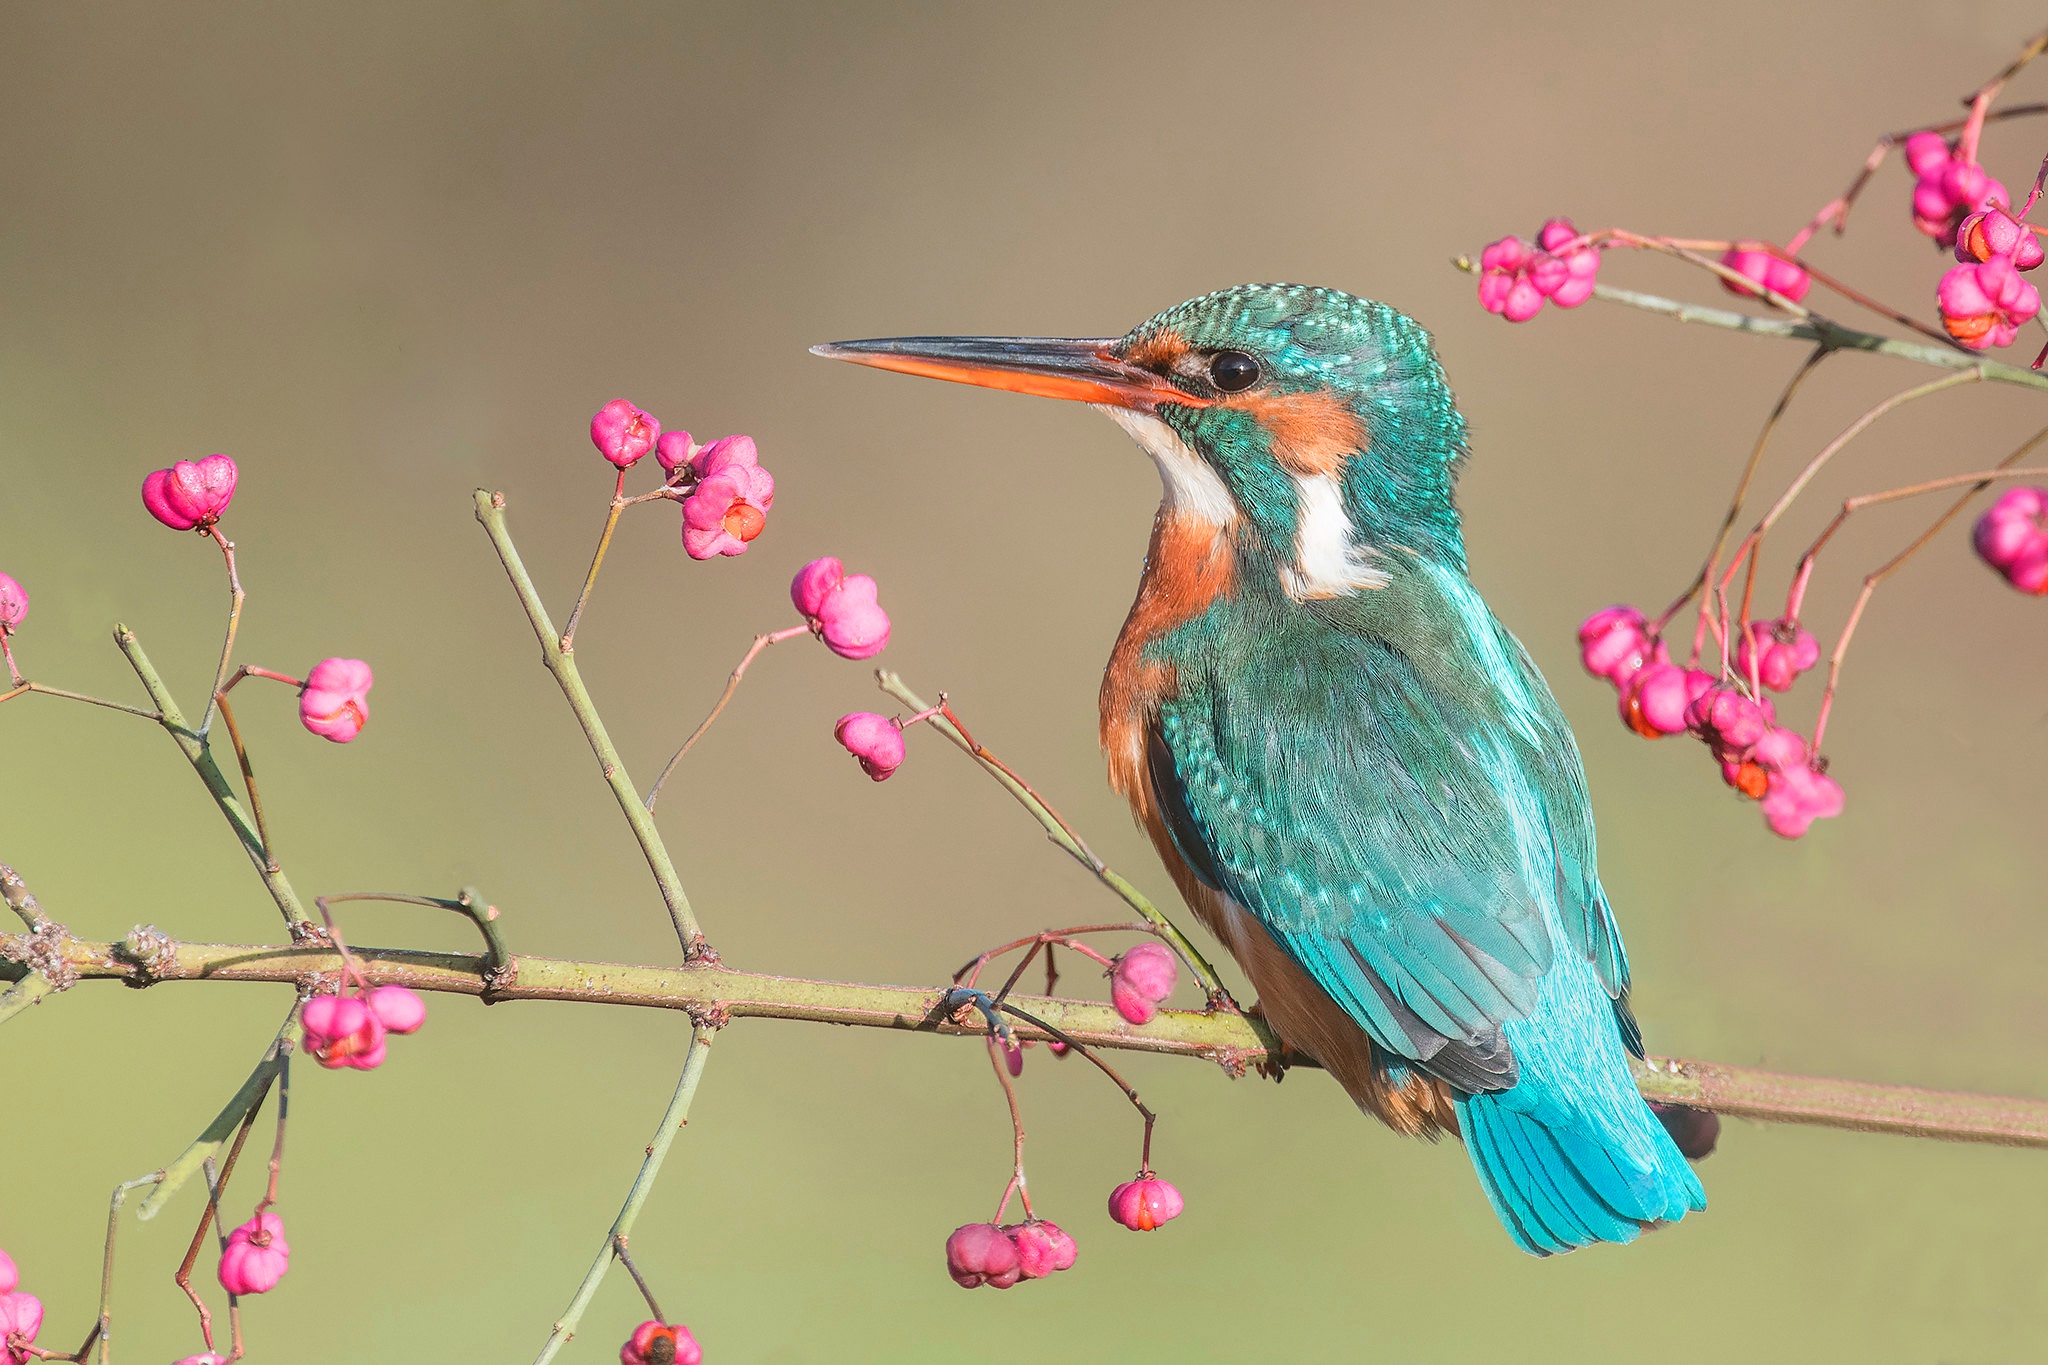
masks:
[[[813,352],[1081,401],[1159,467],[1102,749],[1288,1050],[1462,1138],[1532,1254],[1706,1207],[1630,1078],[1579,747],[1468,577],[1464,417],[1419,323],[1241,284],[1122,338]]]

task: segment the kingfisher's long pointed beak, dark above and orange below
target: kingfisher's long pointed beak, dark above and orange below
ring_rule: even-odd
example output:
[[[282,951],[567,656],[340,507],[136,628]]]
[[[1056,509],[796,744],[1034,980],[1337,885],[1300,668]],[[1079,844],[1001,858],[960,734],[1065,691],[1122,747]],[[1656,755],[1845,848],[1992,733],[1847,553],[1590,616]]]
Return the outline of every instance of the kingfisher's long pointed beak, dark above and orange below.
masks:
[[[1036,393],[1075,403],[1151,411],[1159,403],[1198,403],[1159,375],[1110,354],[1114,340],[1079,342],[1042,336],[895,336],[829,342],[813,356],[872,364],[983,389]]]

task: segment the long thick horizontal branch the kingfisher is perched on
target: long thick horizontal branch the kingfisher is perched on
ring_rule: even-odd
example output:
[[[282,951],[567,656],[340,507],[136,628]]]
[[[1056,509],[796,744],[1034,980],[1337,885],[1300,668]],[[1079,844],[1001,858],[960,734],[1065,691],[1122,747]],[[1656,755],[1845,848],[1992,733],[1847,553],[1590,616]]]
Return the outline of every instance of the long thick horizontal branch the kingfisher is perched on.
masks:
[[[6,966],[20,962],[18,941],[20,935],[0,937],[0,976],[23,970]],[[414,990],[477,997],[489,993],[492,1001],[584,1001],[680,1009],[711,1025],[725,1019],[805,1019],[915,1033],[987,1036],[979,1013],[956,1019],[944,1009],[952,986],[870,986],[760,976],[723,966],[662,968],[559,958],[512,958],[510,980],[489,986],[485,958],[397,950],[354,952],[371,984],[399,984]],[[119,980],[129,986],[162,980],[309,984],[317,976],[342,972],[342,956],[317,943],[297,948],[164,943],[145,966],[125,956],[121,943],[66,939],[63,956],[80,980]],[[1257,1062],[1305,1064],[1296,1054],[1282,1056],[1272,1031],[1253,1015],[1163,1009],[1145,1027],[1133,1027],[1114,1009],[1094,1001],[1020,995],[1008,1003],[1036,1021],[1012,1025],[1024,1040],[1057,1042],[1053,1029],[1059,1029],[1065,1040],[1090,1048],[1208,1058],[1233,1076]],[[1634,1072],[1647,1099],[1694,1105],[1731,1117],[2048,1148],[2048,1101],[2042,1099],[1786,1076],[1679,1058],[1651,1058],[1634,1064]]]

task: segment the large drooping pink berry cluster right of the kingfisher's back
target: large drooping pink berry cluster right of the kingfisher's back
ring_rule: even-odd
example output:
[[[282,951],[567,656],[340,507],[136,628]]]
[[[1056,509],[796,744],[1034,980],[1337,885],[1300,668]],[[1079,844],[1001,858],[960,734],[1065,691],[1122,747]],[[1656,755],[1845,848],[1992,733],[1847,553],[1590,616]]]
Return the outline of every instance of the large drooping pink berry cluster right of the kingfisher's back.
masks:
[[[1796,620],[1751,622],[1735,647],[1735,675],[1671,663],[1642,612],[1610,606],[1579,626],[1579,663],[1608,679],[1622,722],[1645,739],[1690,733],[1720,763],[1722,782],[1761,802],[1772,833],[1798,839],[1815,821],[1841,814],[1841,784],[1806,739],[1778,724],[1763,690],[1786,692],[1815,667],[1821,649]]]

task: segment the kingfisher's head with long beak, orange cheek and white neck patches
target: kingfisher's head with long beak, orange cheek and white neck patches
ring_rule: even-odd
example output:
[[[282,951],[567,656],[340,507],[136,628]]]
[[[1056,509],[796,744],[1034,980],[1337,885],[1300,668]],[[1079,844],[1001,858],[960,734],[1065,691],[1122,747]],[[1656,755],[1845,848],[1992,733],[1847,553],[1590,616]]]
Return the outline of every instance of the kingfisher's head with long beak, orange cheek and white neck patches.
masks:
[[[1159,465],[1167,516],[1237,536],[1294,598],[1386,581],[1389,551],[1464,567],[1464,420],[1430,334],[1335,289],[1239,284],[1112,340],[889,338],[834,360],[1096,405]]]

